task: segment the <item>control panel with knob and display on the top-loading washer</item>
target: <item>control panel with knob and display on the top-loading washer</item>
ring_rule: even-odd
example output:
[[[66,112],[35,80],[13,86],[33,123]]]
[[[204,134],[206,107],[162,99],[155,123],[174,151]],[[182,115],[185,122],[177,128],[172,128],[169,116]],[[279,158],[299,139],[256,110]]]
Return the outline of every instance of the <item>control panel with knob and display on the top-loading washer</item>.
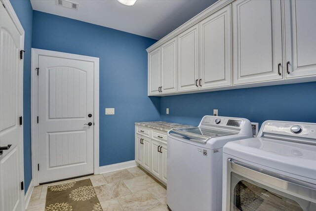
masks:
[[[227,117],[216,117],[216,116],[205,116],[200,125],[207,126],[222,126],[222,127],[233,127],[241,128],[243,125],[242,119],[237,118],[227,118]]]

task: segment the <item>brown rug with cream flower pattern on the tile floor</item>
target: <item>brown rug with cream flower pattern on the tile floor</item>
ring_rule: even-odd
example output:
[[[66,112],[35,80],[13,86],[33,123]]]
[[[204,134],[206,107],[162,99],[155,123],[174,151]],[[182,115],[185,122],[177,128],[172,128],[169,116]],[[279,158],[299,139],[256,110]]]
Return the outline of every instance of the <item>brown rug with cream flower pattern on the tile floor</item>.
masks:
[[[102,211],[90,179],[47,188],[45,211]]]

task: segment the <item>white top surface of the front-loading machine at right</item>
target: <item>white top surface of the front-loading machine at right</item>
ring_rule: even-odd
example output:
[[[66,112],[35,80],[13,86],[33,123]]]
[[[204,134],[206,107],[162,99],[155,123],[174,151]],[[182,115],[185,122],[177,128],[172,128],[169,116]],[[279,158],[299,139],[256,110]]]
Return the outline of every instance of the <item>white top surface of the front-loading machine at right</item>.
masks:
[[[316,145],[256,137],[228,142],[223,147],[223,153],[316,179]]]

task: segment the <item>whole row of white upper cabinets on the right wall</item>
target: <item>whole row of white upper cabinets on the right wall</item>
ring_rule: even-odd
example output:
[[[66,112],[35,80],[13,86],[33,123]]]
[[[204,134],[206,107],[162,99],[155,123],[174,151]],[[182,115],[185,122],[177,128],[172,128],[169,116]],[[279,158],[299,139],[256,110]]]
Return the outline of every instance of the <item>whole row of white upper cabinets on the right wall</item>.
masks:
[[[147,48],[148,94],[316,81],[316,0],[219,0]]]

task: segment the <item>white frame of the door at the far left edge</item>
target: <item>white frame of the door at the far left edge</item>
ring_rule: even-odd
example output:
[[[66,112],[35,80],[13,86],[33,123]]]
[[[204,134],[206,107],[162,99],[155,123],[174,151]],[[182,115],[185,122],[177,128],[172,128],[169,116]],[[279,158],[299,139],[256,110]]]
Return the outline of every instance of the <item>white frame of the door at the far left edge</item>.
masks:
[[[24,50],[24,37],[25,37],[25,32],[24,29],[22,27],[22,24],[18,18],[18,16],[16,15],[13,6],[11,5],[9,0],[0,0],[0,2],[3,4],[3,6],[5,7],[5,10],[7,11],[7,13],[9,14],[12,22],[14,23],[15,27],[17,28],[18,32],[20,33],[20,50]],[[21,84],[21,88],[20,90],[18,90],[19,94],[20,94],[20,105],[18,105],[18,109],[20,112],[20,116],[22,116],[22,118],[24,118],[23,116],[23,96],[24,96],[24,89],[23,89],[23,72],[24,72],[24,57],[23,59],[19,60],[19,79],[18,79],[18,83]],[[20,180],[21,182],[24,182],[24,190],[26,190],[28,187],[25,187],[25,181],[24,181],[24,133],[23,133],[23,128],[24,128],[24,122],[22,122],[22,125],[20,126],[20,140],[19,140],[19,150],[20,150],[20,155],[19,155],[19,163],[20,163]],[[21,200],[21,207],[24,209],[25,208],[25,191],[21,190],[20,191],[20,200]]]

